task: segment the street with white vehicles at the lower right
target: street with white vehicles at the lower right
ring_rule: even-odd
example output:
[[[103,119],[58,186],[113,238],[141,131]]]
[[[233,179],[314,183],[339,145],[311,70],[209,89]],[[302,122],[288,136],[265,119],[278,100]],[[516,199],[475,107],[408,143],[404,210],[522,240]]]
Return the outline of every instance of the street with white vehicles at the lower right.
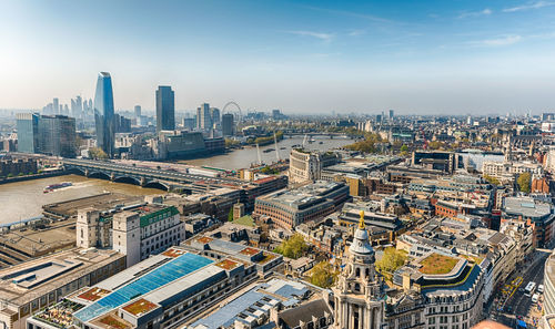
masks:
[[[551,250],[537,249],[534,251],[534,257],[531,263],[524,265],[524,269],[517,269],[516,273],[509,277],[507,280],[507,288],[511,289],[509,282],[517,282],[517,286],[513,285],[513,294],[509,295],[507,300],[504,302],[503,309],[496,311],[496,321],[515,328],[516,318],[522,317],[522,319],[529,326],[536,327],[534,325],[534,319],[538,319],[542,316],[542,311],[538,310],[537,305],[543,305],[543,295],[541,295],[539,302],[533,304],[529,296],[525,296],[524,287],[531,281],[537,286],[544,282],[544,267],[547,256],[549,256]],[[518,279],[522,277],[522,280]],[[501,294],[500,294],[501,295]],[[500,298],[501,296],[497,296]]]

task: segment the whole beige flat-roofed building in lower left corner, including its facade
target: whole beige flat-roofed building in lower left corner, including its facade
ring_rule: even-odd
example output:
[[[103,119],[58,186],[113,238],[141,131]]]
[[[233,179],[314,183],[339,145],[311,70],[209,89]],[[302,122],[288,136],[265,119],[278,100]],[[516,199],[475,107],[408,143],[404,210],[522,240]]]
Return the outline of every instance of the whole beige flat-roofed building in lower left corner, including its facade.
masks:
[[[73,248],[1,269],[0,327],[26,329],[30,316],[124,268],[120,253]]]

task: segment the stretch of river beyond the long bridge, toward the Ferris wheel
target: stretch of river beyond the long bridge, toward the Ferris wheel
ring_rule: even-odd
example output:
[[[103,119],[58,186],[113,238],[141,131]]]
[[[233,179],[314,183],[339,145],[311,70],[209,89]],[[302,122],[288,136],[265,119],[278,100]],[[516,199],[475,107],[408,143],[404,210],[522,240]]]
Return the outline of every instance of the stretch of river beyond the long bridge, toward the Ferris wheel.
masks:
[[[280,148],[284,147],[284,150],[279,150],[280,158],[289,158],[289,153],[291,152],[291,147],[293,145],[301,145],[303,143],[304,136],[293,136],[292,138],[283,138],[278,143]],[[327,136],[314,136],[313,143],[305,143],[304,147],[307,150],[320,150],[327,151],[334,147],[341,147],[346,144],[353,143],[352,140],[346,137],[334,137],[331,140]],[[322,144],[320,144],[322,142]],[[264,150],[275,148],[274,143],[261,146],[260,155],[263,163],[271,164],[278,160],[275,151],[264,153]],[[256,147],[248,146],[243,150],[235,150],[228,154],[215,155],[211,157],[204,158],[195,158],[188,161],[180,161],[180,163],[186,163],[195,166],[212,166],[224,169],[239,169],[239,168],[248,168],[252,163],[258,163],[258,152]]]

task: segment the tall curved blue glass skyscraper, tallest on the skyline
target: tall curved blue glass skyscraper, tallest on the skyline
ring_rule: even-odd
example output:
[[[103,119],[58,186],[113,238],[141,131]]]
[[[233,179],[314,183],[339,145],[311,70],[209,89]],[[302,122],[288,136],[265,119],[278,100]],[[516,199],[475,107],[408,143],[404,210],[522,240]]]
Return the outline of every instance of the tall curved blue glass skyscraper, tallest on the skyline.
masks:
[[[113,156],[115,124],[113,121],[112,78],[108,72],[100,72],[94,94],[94,123],[97,126],[97,145],[109,157]]]

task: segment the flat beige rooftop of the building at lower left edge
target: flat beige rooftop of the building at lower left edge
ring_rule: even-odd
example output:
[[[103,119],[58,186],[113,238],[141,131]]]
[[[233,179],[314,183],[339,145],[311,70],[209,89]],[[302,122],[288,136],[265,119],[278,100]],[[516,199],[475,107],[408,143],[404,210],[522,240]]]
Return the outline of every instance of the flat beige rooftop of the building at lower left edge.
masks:
[[[0,296],[23,305],[123,257],[114,250],[73,248],[21,263],[0,270]]]

